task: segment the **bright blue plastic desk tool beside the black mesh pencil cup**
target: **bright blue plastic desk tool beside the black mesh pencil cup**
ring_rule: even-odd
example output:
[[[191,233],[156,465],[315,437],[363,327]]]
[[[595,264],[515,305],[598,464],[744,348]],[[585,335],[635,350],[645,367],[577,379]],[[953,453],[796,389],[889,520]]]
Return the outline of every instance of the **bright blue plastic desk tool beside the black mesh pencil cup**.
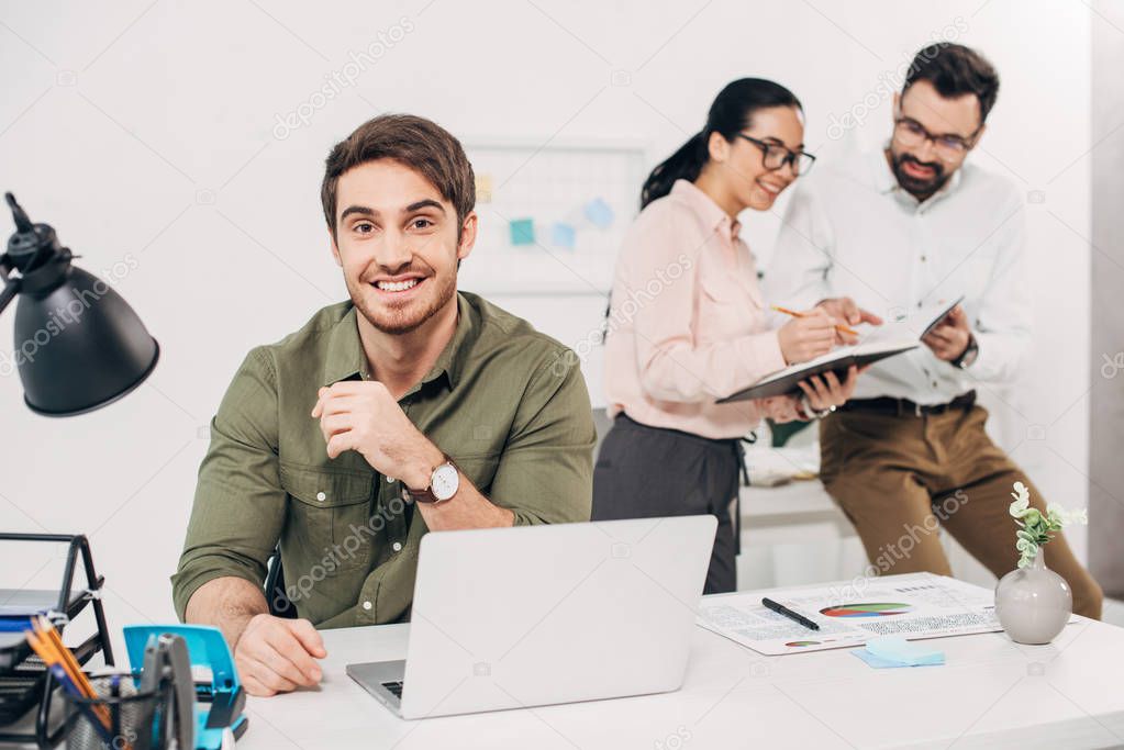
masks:
[[[129,656],[129,668],[134,678],[140,680],[144,688],[148,673],[148,650],[160,649],[161,639],[165,642],[179,640],[185,650],[185,670],[182,678],[176,675],[173,687],[173,712],[185,716],[189,721],[181,722],[179,732],[174,734],[180,750],[220,750],[226,730],[234,738],[241,738],[246,731],[247,719],[243,715],[246,705],[246,694],[234,668],[234,656],[223,638],[221,631],[210,625],[127,625],[125,629],[125,647]],[[178,647],[165,646],[174,653]],[[156,664],[160,664],[157,657]],[[174,657],[173,657],[174,659]],[[181,660],[182,662],[182,660]],[[182,667],[175,665],[175,670]],[[191,713],[182,706],[192,706]],[[190,734],[184,733],[188,728]]]

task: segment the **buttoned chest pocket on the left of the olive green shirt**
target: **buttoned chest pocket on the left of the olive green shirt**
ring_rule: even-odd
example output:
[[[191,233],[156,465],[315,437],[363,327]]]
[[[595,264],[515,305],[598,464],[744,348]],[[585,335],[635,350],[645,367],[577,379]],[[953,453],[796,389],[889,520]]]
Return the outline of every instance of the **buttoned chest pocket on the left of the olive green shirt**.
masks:
[[[373,472],[281,464],[281,486],[290,497],[287,537],[305,552],[302,558],[332,560],[324,566],[328,574],[370,566],[374,478]]]

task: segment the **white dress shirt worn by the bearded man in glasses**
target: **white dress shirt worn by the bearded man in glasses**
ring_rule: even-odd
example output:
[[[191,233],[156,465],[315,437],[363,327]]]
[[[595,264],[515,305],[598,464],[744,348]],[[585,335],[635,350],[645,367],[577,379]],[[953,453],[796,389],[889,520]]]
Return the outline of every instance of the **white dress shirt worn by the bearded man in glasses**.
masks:
[[[979,345],[967,369],[926,346],[877,363],[853,397],[939,404],[976,383],[1013,381],[1031,339],[1025,209],[1014,184],[964,164],[918,202],[898,185],[882,150],[818,166],[797,183],[764,275],[765,298],[810,308],[850,296],[889,322],[963,294]]]

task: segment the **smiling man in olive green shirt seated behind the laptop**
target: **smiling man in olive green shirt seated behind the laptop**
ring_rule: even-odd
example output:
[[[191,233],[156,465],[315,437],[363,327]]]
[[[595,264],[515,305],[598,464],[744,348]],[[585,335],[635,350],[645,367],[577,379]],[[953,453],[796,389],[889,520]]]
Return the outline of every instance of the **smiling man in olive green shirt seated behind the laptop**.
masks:
[[[377,117],[333,148],[321,199],[351,301],[247,355],[172,577],[180,618],[223,630],[255,695],[319,682],[316,628],[408,618],[427,531],[590,512],[577,358],[456,291],[478,223],[461,144]],[[271,616],[262,591],[278,545],[299,620]]]

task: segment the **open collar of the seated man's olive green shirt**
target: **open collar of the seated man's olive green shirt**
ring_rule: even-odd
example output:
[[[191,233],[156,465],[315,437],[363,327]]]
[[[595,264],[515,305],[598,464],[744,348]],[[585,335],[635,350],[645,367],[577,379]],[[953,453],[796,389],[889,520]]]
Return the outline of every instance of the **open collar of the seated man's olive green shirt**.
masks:
[[[359,338],[359,319],[355,305],[351,304],[347,312],[332,327],[328,333],[327,356],[324,362],[321,385],[332,385],[339,381],[370,379],[371,372],[366,363],[366,354]],[[456,386],[461,373],[464,372],[472,341],[479,329],[475,311],[464,295],[456,295],[456,330],[445,348],[437,356],[429,372],[422,378],[426,384],[444,375],[448,387]],[[419,384],[419,385],[420,385]],[[416,388],[411,388],[411,392]]]

